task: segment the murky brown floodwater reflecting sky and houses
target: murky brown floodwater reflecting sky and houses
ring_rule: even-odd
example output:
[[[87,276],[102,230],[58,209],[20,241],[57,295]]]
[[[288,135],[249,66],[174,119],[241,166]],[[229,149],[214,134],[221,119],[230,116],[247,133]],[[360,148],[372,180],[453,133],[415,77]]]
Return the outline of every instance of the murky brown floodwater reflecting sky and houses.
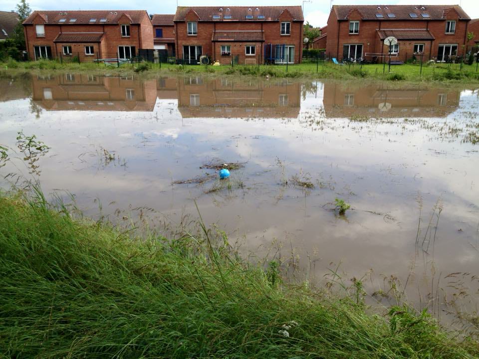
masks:
[[[348,281],[372,269],[371,286],[387,289],[383,276],[393,275],[421,303],[459,286],[469,301],[479,275],[478,94],[196,75],[2,78],[0,144],[15,152],[1,185],[38,179],[45,193],[68,191],[85,213],[113,221],[184,223],[196,200],[230,242],[292,253],[309,277],[339,268]],[[50,147],[33,170],[20,130]],[[220,182],[202,168],[217,160],[244,167]],[[345,215],[336,197],[350,203]]]

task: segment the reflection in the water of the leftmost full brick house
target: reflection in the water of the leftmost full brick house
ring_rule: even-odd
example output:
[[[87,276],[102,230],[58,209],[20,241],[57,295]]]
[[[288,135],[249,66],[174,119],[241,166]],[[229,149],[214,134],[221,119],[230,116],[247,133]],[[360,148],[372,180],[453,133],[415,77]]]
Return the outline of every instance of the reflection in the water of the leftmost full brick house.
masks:
[[[33,76],[32,99],[53,111],[153,111],[156,82],[133,76]]]

